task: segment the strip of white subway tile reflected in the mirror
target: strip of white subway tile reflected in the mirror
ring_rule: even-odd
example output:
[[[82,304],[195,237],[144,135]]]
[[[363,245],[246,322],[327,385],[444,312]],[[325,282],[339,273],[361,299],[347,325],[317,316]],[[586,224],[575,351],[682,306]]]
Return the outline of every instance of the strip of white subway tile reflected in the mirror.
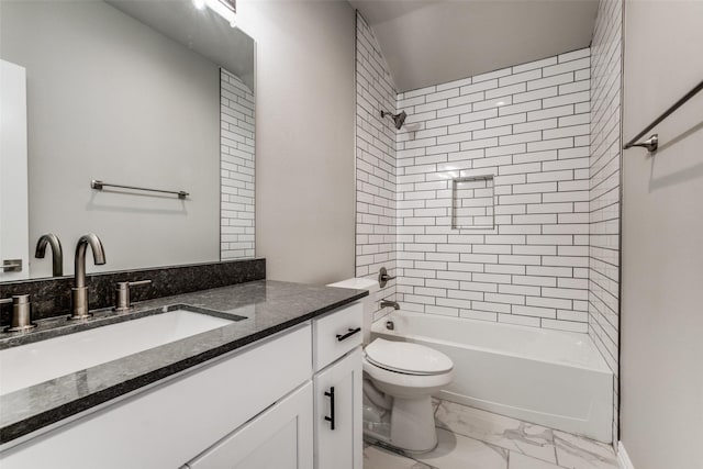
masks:
[[[220,70],[221,259],[254,257],[254,94]]]

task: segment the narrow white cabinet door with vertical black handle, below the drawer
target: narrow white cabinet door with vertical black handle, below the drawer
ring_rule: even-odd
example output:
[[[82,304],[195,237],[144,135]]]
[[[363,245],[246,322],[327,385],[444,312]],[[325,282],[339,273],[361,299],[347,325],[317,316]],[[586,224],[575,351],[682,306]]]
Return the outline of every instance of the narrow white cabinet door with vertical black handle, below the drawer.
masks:
[[[314,384],[315,468],[361,469],[361,349],[315,375]]]

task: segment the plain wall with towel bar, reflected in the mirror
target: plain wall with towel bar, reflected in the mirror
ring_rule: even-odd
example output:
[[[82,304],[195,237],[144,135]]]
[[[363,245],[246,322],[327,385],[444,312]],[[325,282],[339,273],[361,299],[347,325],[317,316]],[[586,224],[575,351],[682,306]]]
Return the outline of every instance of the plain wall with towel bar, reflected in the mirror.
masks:
[[[2,2],[1,55],[26,68],[30,249],[47,232],[72,272],[97,233],[89,271],[220,258],[220,72],[200,55],[103,2]],[[186,190],[97,192],[91,179]],[[48,258],[32,276],[51,276]]]

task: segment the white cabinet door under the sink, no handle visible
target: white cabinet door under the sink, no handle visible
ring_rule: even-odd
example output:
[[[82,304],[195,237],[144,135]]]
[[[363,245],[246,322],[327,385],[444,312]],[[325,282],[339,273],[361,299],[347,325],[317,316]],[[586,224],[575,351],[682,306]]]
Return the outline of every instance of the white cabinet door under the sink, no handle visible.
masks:
[[[310,469],[313,459],[312,401],[312,384],[308,382],[186,467]]]

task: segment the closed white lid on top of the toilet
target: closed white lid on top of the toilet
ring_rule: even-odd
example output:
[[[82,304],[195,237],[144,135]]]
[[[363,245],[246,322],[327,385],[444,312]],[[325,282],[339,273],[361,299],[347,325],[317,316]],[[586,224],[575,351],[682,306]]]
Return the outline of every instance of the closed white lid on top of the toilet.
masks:
[[[420,344],[377,338],[366,349],[371,364],[406,375],[438,375],[451,370],[451,359]]]

